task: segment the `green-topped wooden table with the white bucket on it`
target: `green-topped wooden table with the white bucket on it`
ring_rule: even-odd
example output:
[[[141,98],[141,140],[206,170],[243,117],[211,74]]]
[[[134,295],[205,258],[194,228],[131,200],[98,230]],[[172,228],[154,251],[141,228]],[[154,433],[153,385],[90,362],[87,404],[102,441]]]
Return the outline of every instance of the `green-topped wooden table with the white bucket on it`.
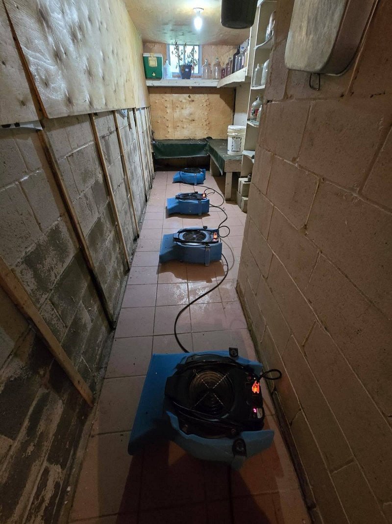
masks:
[[[227,140],[209,140],[206,152],[210,155],[210,173],[216,177],[225,174],[225,200],[232,199],[233,173],[241,171],[242,155],[227,154]]]

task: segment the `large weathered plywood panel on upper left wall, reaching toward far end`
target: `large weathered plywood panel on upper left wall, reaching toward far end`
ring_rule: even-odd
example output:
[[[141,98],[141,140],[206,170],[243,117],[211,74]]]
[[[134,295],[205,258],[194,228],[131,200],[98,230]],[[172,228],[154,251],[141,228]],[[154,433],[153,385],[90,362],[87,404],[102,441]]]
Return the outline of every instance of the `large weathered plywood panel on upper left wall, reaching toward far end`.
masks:
[[[148,105],[142,42],[121,0],[5,0],[50,118]]]

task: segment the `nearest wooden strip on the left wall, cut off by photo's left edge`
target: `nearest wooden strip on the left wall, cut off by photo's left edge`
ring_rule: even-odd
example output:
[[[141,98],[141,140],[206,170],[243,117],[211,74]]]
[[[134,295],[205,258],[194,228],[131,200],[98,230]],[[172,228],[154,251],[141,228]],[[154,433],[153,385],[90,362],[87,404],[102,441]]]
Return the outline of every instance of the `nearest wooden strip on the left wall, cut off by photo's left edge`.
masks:
[[[78,373],[70,358],[65,353],[60,342],[53,335],[48,324],[43,320],[38,309],[28,296],[18,277],[6,265],[0,256],[0,285],[7,293],[8,297],[14,302],[16,307],[28,319],[34,323],[42,338],[47,343],[49,351],[52,353],[56,362],[64,369],[64,372],[71,380],[72,384],[79,391],[80,395],[86,400],[89,406],[93,406],[94,397],[89,387]]]

